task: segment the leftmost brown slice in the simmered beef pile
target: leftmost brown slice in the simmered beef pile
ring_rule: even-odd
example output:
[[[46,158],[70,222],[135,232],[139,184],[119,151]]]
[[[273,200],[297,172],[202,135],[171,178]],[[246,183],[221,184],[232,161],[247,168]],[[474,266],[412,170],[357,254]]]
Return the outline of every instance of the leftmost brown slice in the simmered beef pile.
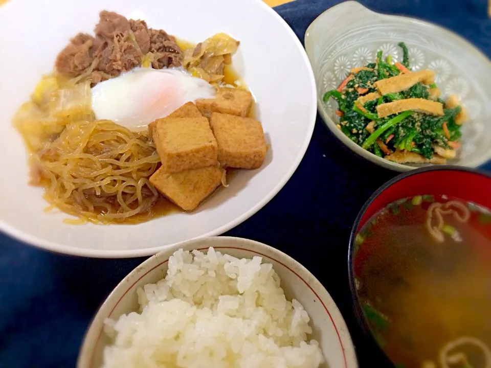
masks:
[[[55,61],[56,70],[65,75],[76,77],[92,64],[94,60],[92,47],[94,37],[79,33],[58,54]]]

